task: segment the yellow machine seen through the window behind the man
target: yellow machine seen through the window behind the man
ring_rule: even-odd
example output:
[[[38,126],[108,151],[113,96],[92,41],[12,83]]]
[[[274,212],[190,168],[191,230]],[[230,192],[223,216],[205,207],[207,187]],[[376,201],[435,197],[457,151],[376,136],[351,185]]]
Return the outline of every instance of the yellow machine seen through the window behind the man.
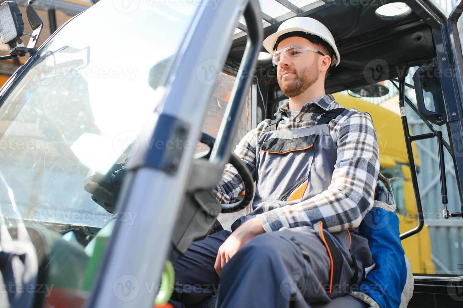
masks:
[[[400,233],[413,229],[418,225],[418,212],[400,116],[386,108],[350,95],[337,93],[333,96],[343,107],[368,112],[373,118],[380,151],[381,172],[391,180],[397,204],[397,216],[400,220]],[[420,162],[414,144],[413,153],[418,167]],[[431,260],[431,239],[427,226],[418,234],[404,239],[402,245],[412,263],[413,272],[434,273],[434,264]]]

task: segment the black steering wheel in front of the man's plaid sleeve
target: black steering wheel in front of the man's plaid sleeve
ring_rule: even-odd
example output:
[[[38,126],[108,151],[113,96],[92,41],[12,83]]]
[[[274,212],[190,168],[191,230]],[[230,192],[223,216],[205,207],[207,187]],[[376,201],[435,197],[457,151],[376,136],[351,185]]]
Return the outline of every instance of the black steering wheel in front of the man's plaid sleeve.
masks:
[[[209,147],[209,151],[202,158],[209,158],[215,143],[215,138],[203,132],[200,142]],[[243,180],[244,197],[240,201],[230,205],[222,204],[222,210],[220,211],[221,213],[233,213],[244,209],[250,204],[252,197],[254,196],[254,180],[252,179],[252,175],[248,167],[246,167],[243,161],[233,152],[230,156],[229,163],[231,163],[232,166],[236,168],[238,175],[241,176],[241,179]]]

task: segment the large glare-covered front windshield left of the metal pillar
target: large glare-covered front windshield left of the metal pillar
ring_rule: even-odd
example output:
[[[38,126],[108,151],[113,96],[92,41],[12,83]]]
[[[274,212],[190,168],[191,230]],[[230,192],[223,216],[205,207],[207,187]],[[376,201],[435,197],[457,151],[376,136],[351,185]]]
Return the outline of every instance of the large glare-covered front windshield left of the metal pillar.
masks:
[[[65,25],[1,98],[6,217],[16,218],[7,186],[22,219],[101,227],[112,217],[84,182],[110,174],[143,142],[138,132],[162,98],[197,8],[113,2],[100,1]]]

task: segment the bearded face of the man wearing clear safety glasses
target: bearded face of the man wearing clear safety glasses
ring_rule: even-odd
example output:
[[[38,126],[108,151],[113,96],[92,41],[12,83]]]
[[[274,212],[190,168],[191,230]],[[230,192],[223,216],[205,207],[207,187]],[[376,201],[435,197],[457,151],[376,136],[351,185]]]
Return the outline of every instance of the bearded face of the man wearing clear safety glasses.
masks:
[[[277,50],[293,45],[319,50],[311,41],[301,37],[285,38],[278,44]],[[314,51],[308,51],[307,54],[294,58],[281,55],[280,62],[277,64],[276,75],[283,94],[288,97],[298,96],[319,79],[319,57],[320,55]]]

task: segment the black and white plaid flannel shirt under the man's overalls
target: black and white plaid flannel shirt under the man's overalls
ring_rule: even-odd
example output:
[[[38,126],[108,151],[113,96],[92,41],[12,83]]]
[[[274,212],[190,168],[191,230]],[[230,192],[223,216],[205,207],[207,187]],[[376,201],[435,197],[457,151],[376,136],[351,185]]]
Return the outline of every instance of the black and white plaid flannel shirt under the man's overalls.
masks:
[[[331,94],[305,104],[299,113],[288,111],[288,102],[280,107],[283,120],[277,130],[294,130],[313,126],[321,114],[342,108]],[[263,120],[239,142],[235,154],[240,157],[256,179],[256,145],[261,133],[271,122]],[[266,232],[282,226],[312,226],[323,221],[329,232],[356,228],[373,207],[376,181],[379,173],[379,150],[376,132],[369,113],[349,109],[328,123],[338,157],[328,189],[296,204],[281,203],[281,207],[257,214]],[[227,164],[222,180],[214,189],[221,203],[232,203],[244,191],[237,170]],[[272,202],[275,201],[263,201]],[[261,205],[261,204],[259,204]],[[255,208],[257,205],[253,204]]]

